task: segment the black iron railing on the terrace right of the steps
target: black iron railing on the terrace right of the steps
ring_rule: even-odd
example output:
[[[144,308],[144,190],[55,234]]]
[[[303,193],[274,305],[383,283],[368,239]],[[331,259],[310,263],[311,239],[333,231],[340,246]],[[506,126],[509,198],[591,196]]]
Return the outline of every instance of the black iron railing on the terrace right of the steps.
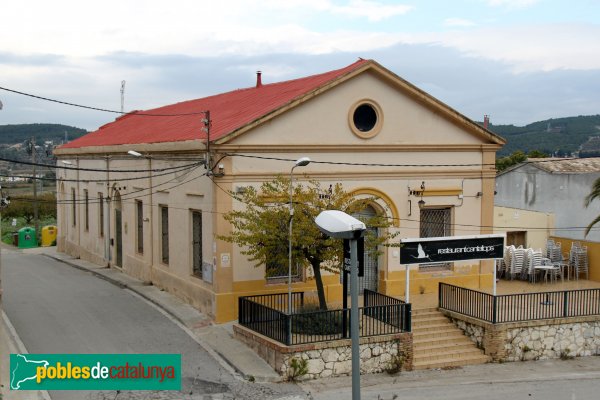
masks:
[[[440,282],[439,307],[493,324],[600,315],[600,289],[493,296]]]

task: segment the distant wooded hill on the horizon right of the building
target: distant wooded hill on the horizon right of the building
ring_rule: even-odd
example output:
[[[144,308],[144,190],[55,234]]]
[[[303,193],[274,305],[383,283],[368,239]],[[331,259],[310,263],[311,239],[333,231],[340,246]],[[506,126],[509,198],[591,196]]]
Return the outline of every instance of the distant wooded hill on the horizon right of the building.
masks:
[[[489,129],[507,140],[498,157],[517,150],[567,156],[578,151],[590,137],[600,135],[600,115],[553,118],[522,127],[490,124]]]

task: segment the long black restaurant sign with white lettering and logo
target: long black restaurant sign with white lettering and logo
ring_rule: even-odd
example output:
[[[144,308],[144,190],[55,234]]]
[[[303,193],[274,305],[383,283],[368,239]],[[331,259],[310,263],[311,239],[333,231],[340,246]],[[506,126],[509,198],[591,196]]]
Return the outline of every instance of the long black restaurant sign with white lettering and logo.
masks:
[[[500,259],[504,242],[504,234],[402,239],[400,264]]]

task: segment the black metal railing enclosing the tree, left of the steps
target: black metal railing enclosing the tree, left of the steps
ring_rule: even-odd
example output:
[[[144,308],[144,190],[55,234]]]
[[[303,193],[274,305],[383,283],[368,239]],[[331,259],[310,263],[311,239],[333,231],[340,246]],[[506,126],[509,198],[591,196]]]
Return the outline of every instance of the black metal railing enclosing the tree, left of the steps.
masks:
[[[285,345],[325,342],[349,337],[350,310],[304,312],[304,293],[292,293],[287,314],[287,293],[239,298],[239,323]],[[367,306],[367,304],[369,304]],[[365,290],[365,307],[359,308],[360,336],[409,332],[411,305]]]

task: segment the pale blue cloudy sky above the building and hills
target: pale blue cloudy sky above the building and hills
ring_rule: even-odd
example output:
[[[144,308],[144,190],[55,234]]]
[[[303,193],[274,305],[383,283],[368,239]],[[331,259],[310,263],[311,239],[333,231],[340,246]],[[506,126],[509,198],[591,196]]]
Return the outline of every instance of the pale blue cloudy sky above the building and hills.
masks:
[[[467,117],[600,113],[598,0],[36,0],[0,8],[0,87],[149,109],[374,59]],[[0,125],[114,113],[0,89]]]

